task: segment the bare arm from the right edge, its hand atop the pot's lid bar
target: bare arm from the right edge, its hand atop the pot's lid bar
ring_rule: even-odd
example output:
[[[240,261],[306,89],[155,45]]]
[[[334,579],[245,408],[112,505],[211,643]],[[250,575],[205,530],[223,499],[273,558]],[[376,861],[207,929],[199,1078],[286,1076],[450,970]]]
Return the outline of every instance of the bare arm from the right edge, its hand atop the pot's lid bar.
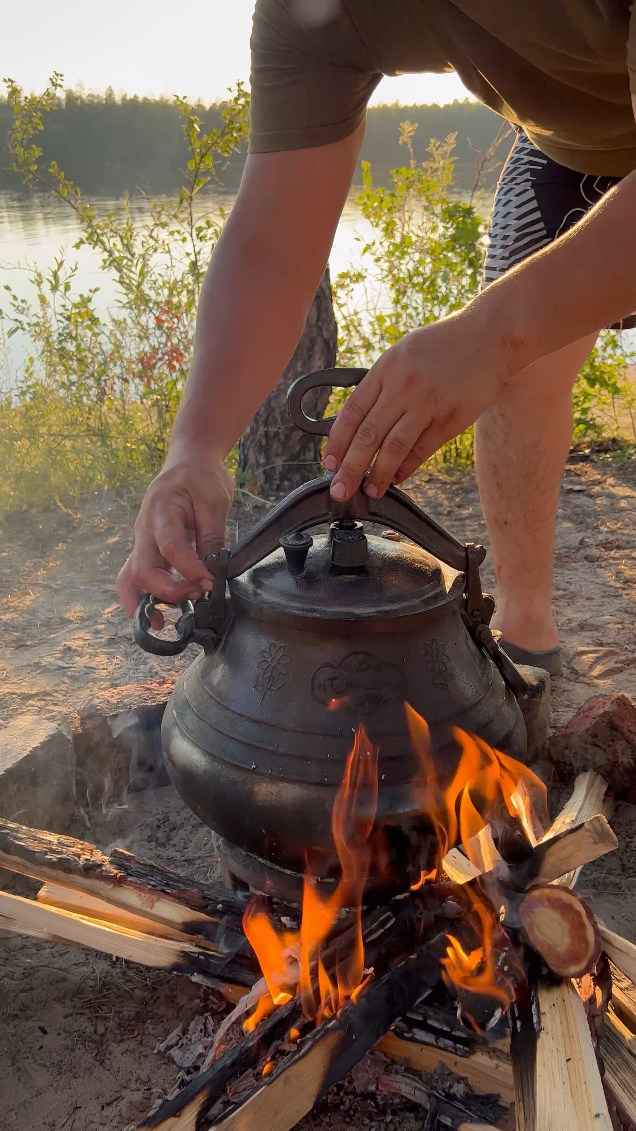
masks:
[[[634,313],[635,265],[636,172],[567,235],[376,362],[325,450],[325,466],[337,469],[334,497],[351,498],[375,457],[364,490],[384,494],[473,424],[504,385],[523,380],[533,361]]]

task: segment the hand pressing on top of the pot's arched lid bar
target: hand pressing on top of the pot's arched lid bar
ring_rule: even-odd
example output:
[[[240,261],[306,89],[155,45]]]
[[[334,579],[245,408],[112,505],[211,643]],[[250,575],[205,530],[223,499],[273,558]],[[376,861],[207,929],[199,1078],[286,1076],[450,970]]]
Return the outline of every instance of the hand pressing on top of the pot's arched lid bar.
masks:
[[[506,359],[480,339],[467,314],[407,334],[353,390],[325,447],[325,467],[337,473],[334,499],[351,499],[371,464],[364,492],[378,499],[497,398],[509,375]]]

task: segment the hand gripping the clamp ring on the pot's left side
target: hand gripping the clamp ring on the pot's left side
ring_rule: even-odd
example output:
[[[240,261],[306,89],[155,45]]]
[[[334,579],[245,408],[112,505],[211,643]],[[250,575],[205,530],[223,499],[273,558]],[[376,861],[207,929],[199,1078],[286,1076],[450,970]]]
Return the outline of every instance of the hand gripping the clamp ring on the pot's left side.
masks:
[[[180,604],[213,588],[205,558],[225,543],[232,494],[232,480],[218,456],[192,442],[173,444],[146,491],[135,523],[135,549],[117,579],[129,616],[144,593]],[[163,618],[155,613],[153,628],[162,627]]]

